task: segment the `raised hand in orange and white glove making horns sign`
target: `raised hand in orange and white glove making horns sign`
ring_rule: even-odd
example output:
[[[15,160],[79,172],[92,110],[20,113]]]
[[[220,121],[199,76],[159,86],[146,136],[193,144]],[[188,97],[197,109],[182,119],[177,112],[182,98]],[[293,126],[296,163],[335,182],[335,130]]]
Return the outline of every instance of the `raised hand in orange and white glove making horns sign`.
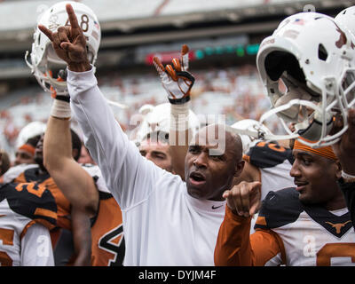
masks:
[[[162,62],[154,57],[154,67],[162,80],[162,86],[168,93],[171,104],[184,104],[190,100],[190,91],[193,88],[194,77],[188,70],[188,51],[186,44],[181,49],[181,58],[172,59],[172,65],[163,67]]]

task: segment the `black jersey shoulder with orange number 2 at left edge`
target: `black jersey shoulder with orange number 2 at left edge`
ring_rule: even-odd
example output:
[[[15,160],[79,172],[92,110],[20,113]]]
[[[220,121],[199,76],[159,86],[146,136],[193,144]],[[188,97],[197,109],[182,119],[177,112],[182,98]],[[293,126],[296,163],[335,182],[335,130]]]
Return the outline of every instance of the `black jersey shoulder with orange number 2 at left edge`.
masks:
[[[9,183],[0,190],[12,211],[49,229],[57,225],[57,203],[45,185],[36,182]]]

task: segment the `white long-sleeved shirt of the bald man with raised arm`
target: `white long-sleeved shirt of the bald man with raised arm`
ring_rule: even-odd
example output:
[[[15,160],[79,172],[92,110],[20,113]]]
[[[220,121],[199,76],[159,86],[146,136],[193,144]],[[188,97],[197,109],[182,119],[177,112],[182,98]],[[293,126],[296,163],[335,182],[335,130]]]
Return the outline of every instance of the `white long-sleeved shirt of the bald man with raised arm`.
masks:
[[[180,177],[139,154],[114,120],[92,70],[68,70],[68,91],[84,143],[122,209],[125,265],[214,265],[225,201],[191,197]]]

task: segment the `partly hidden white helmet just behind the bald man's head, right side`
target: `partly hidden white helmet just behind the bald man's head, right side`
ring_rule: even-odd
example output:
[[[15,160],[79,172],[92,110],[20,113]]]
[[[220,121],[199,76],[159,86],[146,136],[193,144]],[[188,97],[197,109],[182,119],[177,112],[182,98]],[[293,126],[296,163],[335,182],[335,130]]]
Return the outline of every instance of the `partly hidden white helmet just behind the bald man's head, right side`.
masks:
[[[254,119],[243,119],[232,124],[233,133],[239,134],[243,144],[243,154],[247,154],[250,147],[254,146],[260,139],[267,139],[272,135],[264,124]]]

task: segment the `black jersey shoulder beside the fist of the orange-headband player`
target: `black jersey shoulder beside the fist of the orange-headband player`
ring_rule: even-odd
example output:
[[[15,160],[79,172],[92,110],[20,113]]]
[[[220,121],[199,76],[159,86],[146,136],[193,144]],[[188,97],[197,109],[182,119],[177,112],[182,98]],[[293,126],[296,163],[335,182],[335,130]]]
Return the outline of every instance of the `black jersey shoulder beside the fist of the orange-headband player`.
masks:
[[[266,195],[255,229],[272,229],[296,221],[304,210],[295,187],[288,187]]]

